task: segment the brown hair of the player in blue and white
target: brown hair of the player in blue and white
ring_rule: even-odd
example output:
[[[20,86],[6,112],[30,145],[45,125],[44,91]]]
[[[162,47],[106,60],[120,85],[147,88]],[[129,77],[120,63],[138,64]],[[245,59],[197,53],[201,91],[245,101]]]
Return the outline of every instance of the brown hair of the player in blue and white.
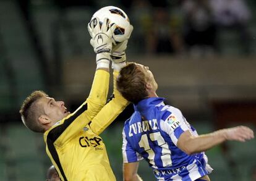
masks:
[[[121,95],[132,103],[148,97],[146,75],[134,62],[120,70],[116,85]]]

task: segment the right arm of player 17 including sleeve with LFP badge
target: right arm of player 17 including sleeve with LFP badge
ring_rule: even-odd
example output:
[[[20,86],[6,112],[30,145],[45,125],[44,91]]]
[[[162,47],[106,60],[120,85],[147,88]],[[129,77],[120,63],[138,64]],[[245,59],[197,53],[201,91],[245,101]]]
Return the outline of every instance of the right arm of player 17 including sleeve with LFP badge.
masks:
[[[174,145],[186,154],[200,153],[223,143],[227,140],[245,141],[254,138],[254,132],[244,126],[226,128],[205,135],[194,133],[193,127],[187,124],[187,120],[181,111],[175,107],[166,109],[170,115],[161,121],[161,128],[168,133]]]

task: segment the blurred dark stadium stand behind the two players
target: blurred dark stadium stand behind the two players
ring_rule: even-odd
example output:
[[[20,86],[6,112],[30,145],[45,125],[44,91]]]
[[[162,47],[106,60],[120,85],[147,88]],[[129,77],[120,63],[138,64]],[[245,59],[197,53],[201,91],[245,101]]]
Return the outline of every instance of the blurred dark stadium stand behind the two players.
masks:
[[[140,3],[147,4],[141,9]],[[211,56],[189,56],[148,52],[145,29],[151,26],[154,1],[0,1],[0,180],[45,180],[51,164],[45,153],[43,137],[27,130],[19,118],[19,106],[33,90],[45,90],[62,99],[70,110],[82,103],[90,91],[95,71],[95,56],[90,46],[87,23],[93,12],[103,6],[123,8],[134,25],[127,57],[148,65],[159,85],[158,95],[179,107],[198,133],[207,133],[220,125],[213,103],[243,101],[256,103],[256,2],[247,0],[252,12],[249,21],[250,53],[245,54],[234,29],[218,32],[220,53]],[[135,4],[135,5],[134,5]],[[151,5],[150,5],[151,4]],[[177,30],[182,29],[184,16],[181,1],[159,1],[174,15]],[[141,11],[139,11],[139,10]],[[111,91],[109,91],[111,93]],[[132,109],[132,107],[129,107]],[[244,106],[242,107],[244,109]],[[255,107],[250,106],[252,112]],[[240,111],[242,109],[239,109]],[[217,114],[218,113],[218,114]],[[105,140],[109,160],[117,180],[122,180],[122,125],[125,112],[101,136]],[[230,113],[228,113],[230,114]],[[241,122],[247,123],[246,109]],[[235,116],[235,115],[234,115]],[[211,180],[252,180],[256,166],[255,139],[247,143],[230,142],[231,150],[221,146],[207,151],[215,171]],[[236,166],[236,167],[234,167]],[[141,162],[139,174],[144,180],[155,180],[150,168]]]

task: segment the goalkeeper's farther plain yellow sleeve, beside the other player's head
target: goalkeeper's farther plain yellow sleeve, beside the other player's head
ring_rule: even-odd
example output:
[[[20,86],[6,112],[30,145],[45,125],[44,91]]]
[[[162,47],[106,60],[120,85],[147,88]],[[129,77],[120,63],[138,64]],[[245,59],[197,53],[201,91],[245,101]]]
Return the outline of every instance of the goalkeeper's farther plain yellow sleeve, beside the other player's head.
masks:
[[[102,133],[103,130],[105,130],[105,128],[108,127],[109,124],[111,124],[129,104],[128,101],[124,97],[122,97],[121,93],[119,93],[119,91],[117,91],[116,89],[116,78],[118,74],[119,72],[114,70],[114,98],[111,99],[111,101],[109,101],[109,103],[101,109],[101,111],[93,118],[90,124],[92,131],[96,135],[100,135],[100,133]]]

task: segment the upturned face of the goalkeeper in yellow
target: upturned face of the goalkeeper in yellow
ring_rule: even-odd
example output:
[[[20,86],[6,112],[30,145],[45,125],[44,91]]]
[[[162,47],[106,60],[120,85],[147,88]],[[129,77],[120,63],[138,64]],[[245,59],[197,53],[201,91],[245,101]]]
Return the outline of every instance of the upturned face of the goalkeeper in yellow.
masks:
[[[41,104],[44,111],[44,115],[40,116],[40,122],[41,124],[48,125],[48,127],[51,127],[70,114],[63,101],[55,101],[54,98],[48,96],[41,98],[38,104]]]

